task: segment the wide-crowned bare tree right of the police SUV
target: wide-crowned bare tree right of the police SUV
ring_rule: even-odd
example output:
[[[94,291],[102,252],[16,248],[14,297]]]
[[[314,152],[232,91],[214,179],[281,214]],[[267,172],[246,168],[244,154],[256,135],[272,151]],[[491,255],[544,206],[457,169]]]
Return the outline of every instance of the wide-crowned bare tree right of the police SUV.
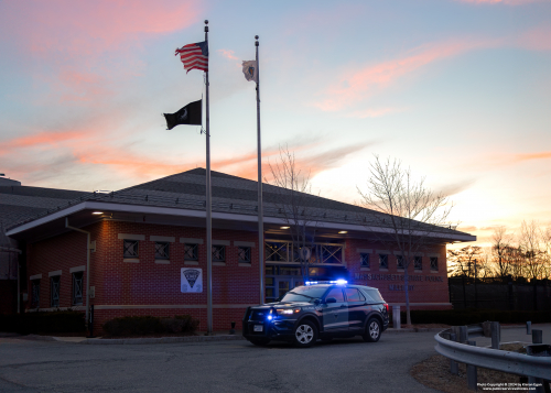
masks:
[[[408,268],[417,252],[434,247],[435,232],[443,230],[453,205],[444,194],[435,194],[424,185],[424,178],[414,181],[400,161],[381,162],[378,155],[370,164],[367,190],[361,204],[368,209],[369,226],[382,227],[386,234],[372,232],[376,240],[398,249],[402,258],[406,288],[407,324],[411,325]],[[367,218],[367,217],[366,217]]]

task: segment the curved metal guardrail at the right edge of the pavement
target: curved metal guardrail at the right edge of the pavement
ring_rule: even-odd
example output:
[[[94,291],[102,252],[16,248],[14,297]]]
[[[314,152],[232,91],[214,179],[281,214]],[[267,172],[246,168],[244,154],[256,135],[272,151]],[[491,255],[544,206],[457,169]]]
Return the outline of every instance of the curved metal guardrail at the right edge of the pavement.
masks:
[[[434,336],[434,349],[440,354],[460,363],[482,367],[507,373],[551,380],[551,358],[533,357],[498,349],[474,347],[450,340],[453,329],[446,329]],[[467,337],[484,336],[483,324],[467,327]]]

